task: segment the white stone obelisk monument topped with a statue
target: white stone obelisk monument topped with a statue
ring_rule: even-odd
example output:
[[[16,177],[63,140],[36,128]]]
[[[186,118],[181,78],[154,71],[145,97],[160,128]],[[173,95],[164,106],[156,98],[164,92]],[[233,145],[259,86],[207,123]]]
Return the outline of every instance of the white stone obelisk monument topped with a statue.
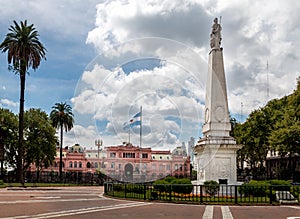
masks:
[[[226,80],[221,45],[221,25],[214,19],[210,35],[208,76],[206,82],[206,100],[204,125],[201,138],[194,152],[197,162],[197,184],[208,180],[236,184],[236,151],[240,148],[229,135],[229,120]]]

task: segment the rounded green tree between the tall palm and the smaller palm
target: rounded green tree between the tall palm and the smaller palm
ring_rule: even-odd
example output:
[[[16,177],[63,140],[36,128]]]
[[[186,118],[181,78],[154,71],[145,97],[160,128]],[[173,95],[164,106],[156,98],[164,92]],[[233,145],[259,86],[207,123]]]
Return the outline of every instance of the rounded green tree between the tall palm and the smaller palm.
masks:
[[[37,179],[43,168],[48,168],[56,155],[55,128],[48,115],[40,109],[30,109],[24,114],[24,169],[31,164],[37,168]]]

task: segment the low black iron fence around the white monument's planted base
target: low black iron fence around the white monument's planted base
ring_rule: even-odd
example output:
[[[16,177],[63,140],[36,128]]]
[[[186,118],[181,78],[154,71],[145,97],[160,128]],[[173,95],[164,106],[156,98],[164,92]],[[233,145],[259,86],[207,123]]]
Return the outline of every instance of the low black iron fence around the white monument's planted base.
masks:
[[[119,198],[199,204],[298,204],[300,186],[174,185],[104,183]]]

